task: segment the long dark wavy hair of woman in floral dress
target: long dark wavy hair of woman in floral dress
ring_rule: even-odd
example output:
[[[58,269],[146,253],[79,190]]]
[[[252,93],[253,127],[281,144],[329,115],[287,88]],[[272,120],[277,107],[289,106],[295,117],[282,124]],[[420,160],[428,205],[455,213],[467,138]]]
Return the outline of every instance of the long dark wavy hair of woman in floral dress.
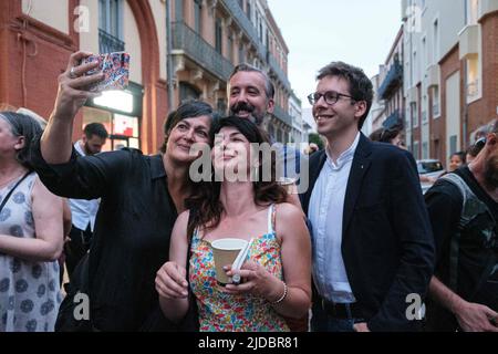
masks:
[[[255,123],[249,119],[228,116],[216,121],[211,125],[209,133],[211,148],[214,147],[216,134],[218,134],[224,127],[235,127],[251,144],[270,144],[268,135]],[[277,183],[274,150],[271,153],[270,162],[263,160],[263,153],[261,150],[259,150],[258,159],[261,166],[264,166],[268,163],[271,164],[271,178],[269,181],[264,181],[262,178],[264,168],[258,169],[258,178],[256,181],[252,181],[256,205],[266,206],[269,204],[286,201],[287,191]],[[214,174],[211,175],[210,181],[196,185],[191,197],[186,200],[186,206],[190,209],[191,214],[187,227],[187,232],[189,236],[194,233],[196,228],[209,230],[215,229],[219,225],[221,215],[225,211],[224,206],[219,200],[220,189],[221,183],[215,180]]]

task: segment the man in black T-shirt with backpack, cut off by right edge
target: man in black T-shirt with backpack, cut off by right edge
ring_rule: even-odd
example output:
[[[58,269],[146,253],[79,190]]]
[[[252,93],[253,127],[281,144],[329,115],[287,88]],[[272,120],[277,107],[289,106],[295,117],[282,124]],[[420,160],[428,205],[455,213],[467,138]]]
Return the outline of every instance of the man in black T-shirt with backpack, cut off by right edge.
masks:
[[[427,330],[498,332],[498,119],[477,157],[425,195],[436,240]]]

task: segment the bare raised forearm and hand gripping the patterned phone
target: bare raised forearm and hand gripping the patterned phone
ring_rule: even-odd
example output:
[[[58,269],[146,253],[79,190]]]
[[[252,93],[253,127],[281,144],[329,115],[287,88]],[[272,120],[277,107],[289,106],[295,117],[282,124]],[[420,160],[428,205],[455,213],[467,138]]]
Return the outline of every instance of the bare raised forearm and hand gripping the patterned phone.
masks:
[[[87,52],[72,54],[65,72],[59,76],[55,106],[41,138],[41,153],[49,164],[64,164],[70,160],[74,117],[86,100],[100,95],[84,90],[85,86],[103,79],[102,73],[82,76],[98,65],[96,62],[80,65],[80,61],[91,54]]]

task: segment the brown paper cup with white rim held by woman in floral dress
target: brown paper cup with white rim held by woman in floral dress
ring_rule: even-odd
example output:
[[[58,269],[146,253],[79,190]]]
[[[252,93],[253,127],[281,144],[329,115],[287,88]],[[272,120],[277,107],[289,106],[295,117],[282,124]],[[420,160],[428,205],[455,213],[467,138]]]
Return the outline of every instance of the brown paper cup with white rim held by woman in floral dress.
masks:
[[[231,279],[227,277],[224,267],[231,266],[246,244],[247,241],[241,239],[219,239],[211,242],[216,280],[221,287],[231,283]]]

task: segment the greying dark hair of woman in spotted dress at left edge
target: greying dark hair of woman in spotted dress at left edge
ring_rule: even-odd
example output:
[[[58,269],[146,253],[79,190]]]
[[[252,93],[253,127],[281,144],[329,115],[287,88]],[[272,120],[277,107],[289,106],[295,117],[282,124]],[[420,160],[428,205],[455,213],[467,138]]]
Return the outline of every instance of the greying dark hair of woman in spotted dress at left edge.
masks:
[[[29,115],[8,111],[0,112],[0,119],[9,123],[13,136],[24,137],[24,146],[17,152],[15,159],[25,168],[33,169],[29,155],[33,139],[42,133],[40,124]]]

